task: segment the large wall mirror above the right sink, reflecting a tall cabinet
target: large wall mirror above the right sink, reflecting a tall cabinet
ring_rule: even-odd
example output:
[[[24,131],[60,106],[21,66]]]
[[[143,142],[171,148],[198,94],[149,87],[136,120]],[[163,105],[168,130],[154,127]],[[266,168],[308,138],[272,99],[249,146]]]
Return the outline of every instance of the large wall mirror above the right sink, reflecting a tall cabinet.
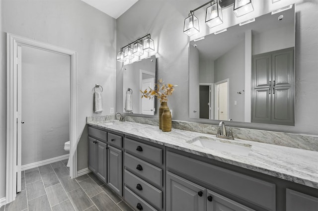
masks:
[[[295,5],[189,43],[189,116],[294,125]]]

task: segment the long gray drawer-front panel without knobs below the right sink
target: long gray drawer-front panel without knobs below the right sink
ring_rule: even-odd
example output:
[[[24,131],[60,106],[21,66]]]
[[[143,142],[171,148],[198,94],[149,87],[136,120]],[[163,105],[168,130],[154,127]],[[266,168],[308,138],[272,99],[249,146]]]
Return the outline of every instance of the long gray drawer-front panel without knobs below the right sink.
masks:
[[[276,209],[275,184],[172,152],[166,153],[166,166],[267,210]]]

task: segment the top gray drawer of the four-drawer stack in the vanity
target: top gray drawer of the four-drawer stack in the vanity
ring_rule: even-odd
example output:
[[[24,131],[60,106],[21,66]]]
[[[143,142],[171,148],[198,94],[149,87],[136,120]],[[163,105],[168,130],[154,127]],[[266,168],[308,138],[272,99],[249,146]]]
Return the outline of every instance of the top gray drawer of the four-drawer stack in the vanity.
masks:
[[[125,150],[137,157],[146,158],[162,164],[162,149],[125,138]]]

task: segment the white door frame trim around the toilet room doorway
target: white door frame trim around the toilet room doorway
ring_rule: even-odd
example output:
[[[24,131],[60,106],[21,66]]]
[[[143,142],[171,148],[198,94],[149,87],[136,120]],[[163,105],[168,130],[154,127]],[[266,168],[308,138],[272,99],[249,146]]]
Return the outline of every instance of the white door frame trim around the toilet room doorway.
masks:
[[[27,46],[52,53],[69,55],[70,70],[70,176],[77,176],[77,52],[47,43],[6,33],[6,203],[16,197],[16,172],[21,170],[17,163],[17,46]]]

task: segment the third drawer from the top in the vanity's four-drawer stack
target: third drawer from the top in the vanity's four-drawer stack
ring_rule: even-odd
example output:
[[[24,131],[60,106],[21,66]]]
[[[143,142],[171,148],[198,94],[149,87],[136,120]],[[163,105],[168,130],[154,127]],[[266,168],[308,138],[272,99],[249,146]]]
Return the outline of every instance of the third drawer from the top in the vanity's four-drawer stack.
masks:
[[[124,182],[127,187],[134,190],[143,199],[151,202],[159,210],[162,209],[162,191],[127,170],[125,170]]]

